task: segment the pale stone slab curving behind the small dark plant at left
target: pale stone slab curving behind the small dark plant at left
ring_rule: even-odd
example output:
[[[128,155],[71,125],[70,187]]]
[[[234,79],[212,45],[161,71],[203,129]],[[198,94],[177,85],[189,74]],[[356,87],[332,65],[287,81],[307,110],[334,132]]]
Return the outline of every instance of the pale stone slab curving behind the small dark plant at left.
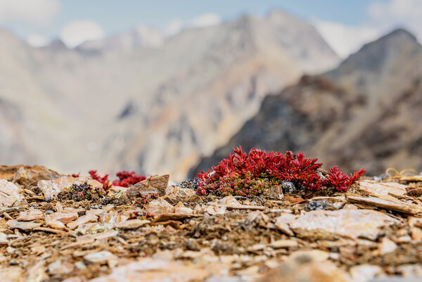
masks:
[[[38,182],[38,187],[44,194],[46,201],[53,200],[57,194],[63,191],[65,188],[72,186],[72,184],[84,184],[87,182],[93,187],[101,187],[103,184],[91,179],[90,177],[60,177],[53,180],[41,180]]]

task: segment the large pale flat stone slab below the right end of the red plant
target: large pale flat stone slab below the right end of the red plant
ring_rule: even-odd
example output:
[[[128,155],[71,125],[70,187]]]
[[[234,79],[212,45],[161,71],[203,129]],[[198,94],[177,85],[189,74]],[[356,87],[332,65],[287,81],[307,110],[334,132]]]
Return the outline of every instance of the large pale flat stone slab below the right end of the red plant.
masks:
[[[303,238],[375,240],[380,227],[398,223],[397,219],[374,210],[314,210],[288,225],[297,236]]]

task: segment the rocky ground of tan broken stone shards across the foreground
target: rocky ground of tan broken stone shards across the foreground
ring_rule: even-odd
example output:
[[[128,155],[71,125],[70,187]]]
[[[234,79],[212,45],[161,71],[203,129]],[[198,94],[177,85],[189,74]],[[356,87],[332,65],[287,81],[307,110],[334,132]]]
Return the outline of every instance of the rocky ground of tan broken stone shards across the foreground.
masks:
[[[88,177],[0,166],[0,281],[419,281],[422,176],[347,193],[199,197],[150,177],[85,200]],[[146,197],[148,196],[148,197]]]

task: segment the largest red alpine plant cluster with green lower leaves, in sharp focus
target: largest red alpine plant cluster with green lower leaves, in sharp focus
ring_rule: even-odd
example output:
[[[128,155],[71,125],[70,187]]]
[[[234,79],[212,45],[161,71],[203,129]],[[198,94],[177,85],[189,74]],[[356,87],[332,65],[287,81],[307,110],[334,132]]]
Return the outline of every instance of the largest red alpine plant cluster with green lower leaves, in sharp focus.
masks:
[[[221,160],[208,172],[198,174],[198,195],[253,197],[283,181],[311,191],[329,186],[344,192],[365,173],[362,168],[349,177],[338,167],[330,167],[328,176],[324,178],[318,171],[322,163],[316,162],[317,159],[305,158],[303,153],[267,153],[252,148],[247,154],[242,152],[241,146],[233,150],[234,155]]]

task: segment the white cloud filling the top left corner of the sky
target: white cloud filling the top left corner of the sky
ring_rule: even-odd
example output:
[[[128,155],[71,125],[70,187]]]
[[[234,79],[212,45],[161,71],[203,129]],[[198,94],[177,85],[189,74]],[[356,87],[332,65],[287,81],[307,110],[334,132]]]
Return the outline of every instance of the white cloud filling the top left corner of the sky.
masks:
[[[46,26],[59,9],[58,0],[0,0],[0,23]]]

